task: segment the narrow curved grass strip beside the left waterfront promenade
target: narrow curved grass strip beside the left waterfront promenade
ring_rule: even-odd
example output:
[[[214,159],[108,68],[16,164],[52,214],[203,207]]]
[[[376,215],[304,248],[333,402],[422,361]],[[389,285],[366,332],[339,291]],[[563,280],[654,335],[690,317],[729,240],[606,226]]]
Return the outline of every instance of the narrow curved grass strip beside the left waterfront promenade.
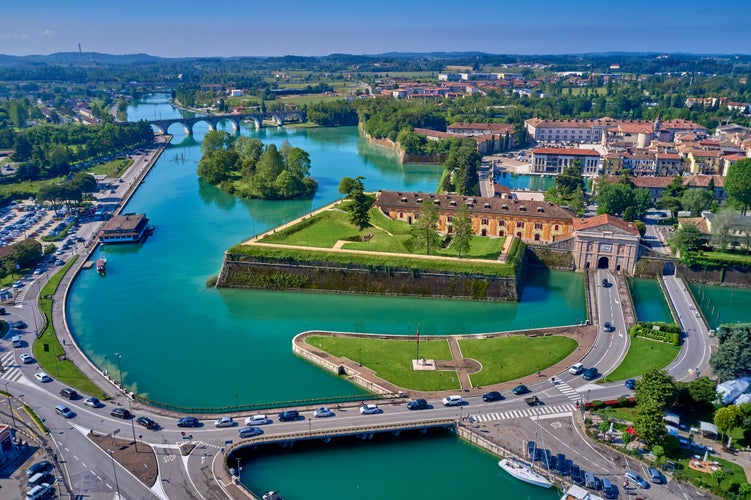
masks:
[[[47,324],[42,330],[39,338],[34,341],[33,351],[39,366],[44,369],[51,377],[56,378],[63,384],[81,391],[91,396],[102,397],[104,392],[94,384],[78,367],[69,359],[59,359],[64,354],[62,346],[57,340],[55,328],[52,325],[52,295],[57,290],[60,281],[65,273],[73,265],[78,257],[74,257],[65,266],[63,266],[42,288],[39,299],[39,308],[47,317]],[[46,346],[46,348],[45,348]]]

